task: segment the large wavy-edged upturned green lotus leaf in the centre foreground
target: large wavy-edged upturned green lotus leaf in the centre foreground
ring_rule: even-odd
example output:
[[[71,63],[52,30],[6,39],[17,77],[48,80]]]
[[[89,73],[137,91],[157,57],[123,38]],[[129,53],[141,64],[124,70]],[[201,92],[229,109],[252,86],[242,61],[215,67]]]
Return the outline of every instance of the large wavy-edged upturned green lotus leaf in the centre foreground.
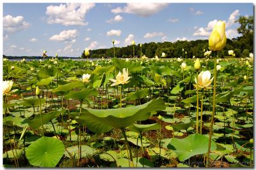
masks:
[[[114,127],[123,129],[136,121],[147,120],[151,111],[164,109],[164,101],[159,97],[139,106],[108,110],[83,109],[80,115],[70,113],[70,116],[76,118],[80,124],[86,125],[90,131],[103,133]]]

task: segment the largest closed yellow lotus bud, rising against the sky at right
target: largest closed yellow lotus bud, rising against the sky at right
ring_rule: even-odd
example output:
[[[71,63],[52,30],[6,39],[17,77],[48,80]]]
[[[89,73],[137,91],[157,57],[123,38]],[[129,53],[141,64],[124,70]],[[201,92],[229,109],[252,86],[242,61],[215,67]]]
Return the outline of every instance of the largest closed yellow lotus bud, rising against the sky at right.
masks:
[[[211,51],[220,51],[224,48],[226,42],[225,23],[218,21],[209,37],[209,48]]]

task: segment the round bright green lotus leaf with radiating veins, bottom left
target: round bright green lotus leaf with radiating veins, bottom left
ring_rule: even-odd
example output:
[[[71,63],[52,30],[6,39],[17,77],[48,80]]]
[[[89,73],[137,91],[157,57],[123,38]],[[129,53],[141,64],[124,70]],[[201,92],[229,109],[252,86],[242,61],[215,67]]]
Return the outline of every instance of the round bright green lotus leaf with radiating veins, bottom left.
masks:
[[[43,136],[26,149],[29,163],[39,167],[55,167],[65,151],[60,139]]]

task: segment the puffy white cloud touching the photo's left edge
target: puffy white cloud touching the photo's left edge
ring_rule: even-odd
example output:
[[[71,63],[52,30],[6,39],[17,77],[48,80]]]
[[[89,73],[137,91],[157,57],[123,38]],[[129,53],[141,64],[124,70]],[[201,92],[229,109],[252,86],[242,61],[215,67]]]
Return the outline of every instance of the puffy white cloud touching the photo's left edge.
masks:
[[[3,29],[7,32],[17,32],[22,29],[27,29],[30,26],[29,22],[24,21],[24,17],[6,15],[3,17]]]

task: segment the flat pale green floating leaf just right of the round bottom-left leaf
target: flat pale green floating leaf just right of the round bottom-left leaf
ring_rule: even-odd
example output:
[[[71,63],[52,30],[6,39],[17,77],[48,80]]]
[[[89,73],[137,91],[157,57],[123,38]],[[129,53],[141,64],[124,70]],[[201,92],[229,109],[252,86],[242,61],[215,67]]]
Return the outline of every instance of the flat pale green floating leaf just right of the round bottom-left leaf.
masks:
[[[74,157],[78,158],[78,146],[70,146],[67,148],[68,152]],[[88,155],[93,155],[95,153],[95,150],[87,145],[81,145],[81,157],[86,157]],[[65,156],[70,158],[70,155],[65,151]]]

